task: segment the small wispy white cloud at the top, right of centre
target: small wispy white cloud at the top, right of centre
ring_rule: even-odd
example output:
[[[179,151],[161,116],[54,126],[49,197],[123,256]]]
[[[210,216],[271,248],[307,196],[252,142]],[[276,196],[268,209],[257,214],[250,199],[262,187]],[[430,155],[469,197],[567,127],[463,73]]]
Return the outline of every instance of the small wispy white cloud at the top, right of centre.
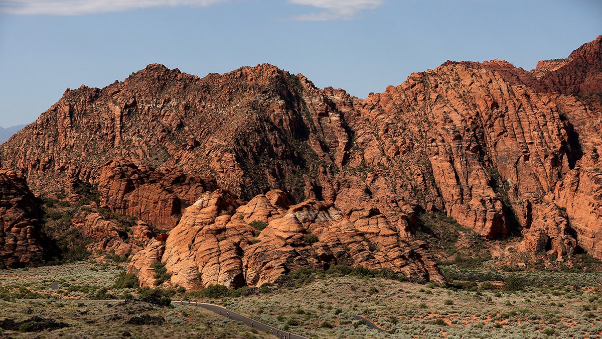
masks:
[[[294,20],[327,21],[353,19],[362,10],[379,7],[383,0],[288,0],[288,2],[297,5],[309,5],[323,10],[318,13],[293,16]]]

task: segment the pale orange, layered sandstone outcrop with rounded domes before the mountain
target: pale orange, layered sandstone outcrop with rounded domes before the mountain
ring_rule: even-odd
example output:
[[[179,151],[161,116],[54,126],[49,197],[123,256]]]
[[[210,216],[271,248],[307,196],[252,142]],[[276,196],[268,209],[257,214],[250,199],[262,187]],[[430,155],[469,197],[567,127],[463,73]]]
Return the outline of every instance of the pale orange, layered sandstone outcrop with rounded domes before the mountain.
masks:
[[[203,195],[171,230],[161,256],[147,247],[131,261],[141,284],[152,285],[156,258],[172,273],[171,283],[196,290],[203,285],[260,286],[301,267],[362,265],[390,268],[412,279],[444,282],[422,242],[406,242],[400,230],[375,209],[346,214],[315,199],[288,206],[287,194],[270,191],[247,204],[229,192]],[[252,225],[261,224],[261,232]]]

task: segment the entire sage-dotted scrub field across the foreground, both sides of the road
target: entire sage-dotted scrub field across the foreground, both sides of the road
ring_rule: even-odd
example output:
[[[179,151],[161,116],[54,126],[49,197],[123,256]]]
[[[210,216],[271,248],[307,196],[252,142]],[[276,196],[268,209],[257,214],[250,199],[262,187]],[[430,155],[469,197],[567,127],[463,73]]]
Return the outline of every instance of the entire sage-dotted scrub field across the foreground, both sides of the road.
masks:
[[[114,288],[119,264],[80,262],[57,267],[0,271],[3,301],[0,321],[32,317],[67,327],[41,332],[28,328],[1,332],[14,338],[262,338],[235,322],[189,305],[160,307],[107,299],[137,294]],[[69,274],[69,279],[60,276]],[[392,279],[321,275],[309,272],[291,287],[265,286],[240,297],[211,299],[176,294],[226,306],[268,325],[315,338],[597,338],[602,336],[602,274],[568,272],[497,272],[444,268],[452,286]],[[467,279],[479,280],[471,282]],[[485,281],[491,279],[490,281]],[[506,287],[498,280],[505,280]],[[53,282],[59,282],[52,290]],[[58,298],[61,299],[58,299]],[[36,299],[52,300],[36,300]],[[362,315],[389,334],[368,329]],[[129,324],[126,324],[129,323]],[[146,325],[135,325],[142,323]],[[49,326],[52,327],[52,326]],[[31,330],[31,329],[30,329]]]

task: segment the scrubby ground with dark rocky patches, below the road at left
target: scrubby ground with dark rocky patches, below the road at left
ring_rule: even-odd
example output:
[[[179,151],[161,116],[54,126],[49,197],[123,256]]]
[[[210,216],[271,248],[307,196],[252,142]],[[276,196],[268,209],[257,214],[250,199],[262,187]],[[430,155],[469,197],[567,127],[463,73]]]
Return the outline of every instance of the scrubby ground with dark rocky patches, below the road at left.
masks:
[[[144,302],[99,303],[61,300],[0,301],[0,319],[26,320],[33,315],[64,322],[69,327],[23,333],[3,331],[0,337],[12,338],[267,338],[267,334],[253,334],[241,323],[191,306],[162,308]],[[128,325],[132,317],[149,315],[163,317],[161,325]],[[255,331],[256,332],[256,331]]]

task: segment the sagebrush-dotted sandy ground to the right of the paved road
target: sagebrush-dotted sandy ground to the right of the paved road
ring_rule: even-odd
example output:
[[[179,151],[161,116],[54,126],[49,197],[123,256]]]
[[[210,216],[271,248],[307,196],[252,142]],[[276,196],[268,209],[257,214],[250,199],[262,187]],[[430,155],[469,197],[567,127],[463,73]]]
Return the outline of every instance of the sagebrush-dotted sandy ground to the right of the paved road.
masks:
[[[544,275],[539,273],[541,278]],[[594,280],[587,275],[567,277]],[[591,284],[578,291],[565,284],[525,291],[475,287],[471,291],[386,279],[327,277],[303,288],[226,299],[223,305],[318,338],[596,338],[602,335],[597,311],[602,306],[602,275],[595,274],[595,280],[597,287]],[[353,320],[358,314],[392,333],[359,325]]]

